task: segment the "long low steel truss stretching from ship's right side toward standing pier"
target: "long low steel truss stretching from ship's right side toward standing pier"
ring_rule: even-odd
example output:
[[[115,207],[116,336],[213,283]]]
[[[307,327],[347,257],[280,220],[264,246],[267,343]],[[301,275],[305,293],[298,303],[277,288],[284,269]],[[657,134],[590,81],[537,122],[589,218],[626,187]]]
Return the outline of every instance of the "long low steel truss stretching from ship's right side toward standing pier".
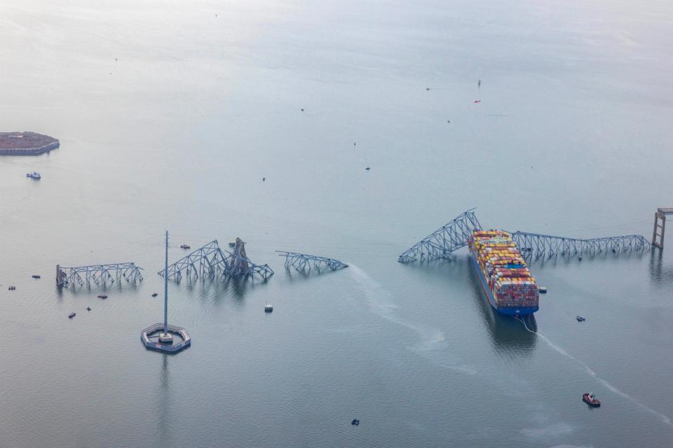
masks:
[[[641,235],[623,235],[592,239],[555,237],[529,232],[512,232],[512,239],[526,257],[551,258],[557,255],[596,255],[598,253],[620,253],[623,251],[648,251],[650,241]]]

